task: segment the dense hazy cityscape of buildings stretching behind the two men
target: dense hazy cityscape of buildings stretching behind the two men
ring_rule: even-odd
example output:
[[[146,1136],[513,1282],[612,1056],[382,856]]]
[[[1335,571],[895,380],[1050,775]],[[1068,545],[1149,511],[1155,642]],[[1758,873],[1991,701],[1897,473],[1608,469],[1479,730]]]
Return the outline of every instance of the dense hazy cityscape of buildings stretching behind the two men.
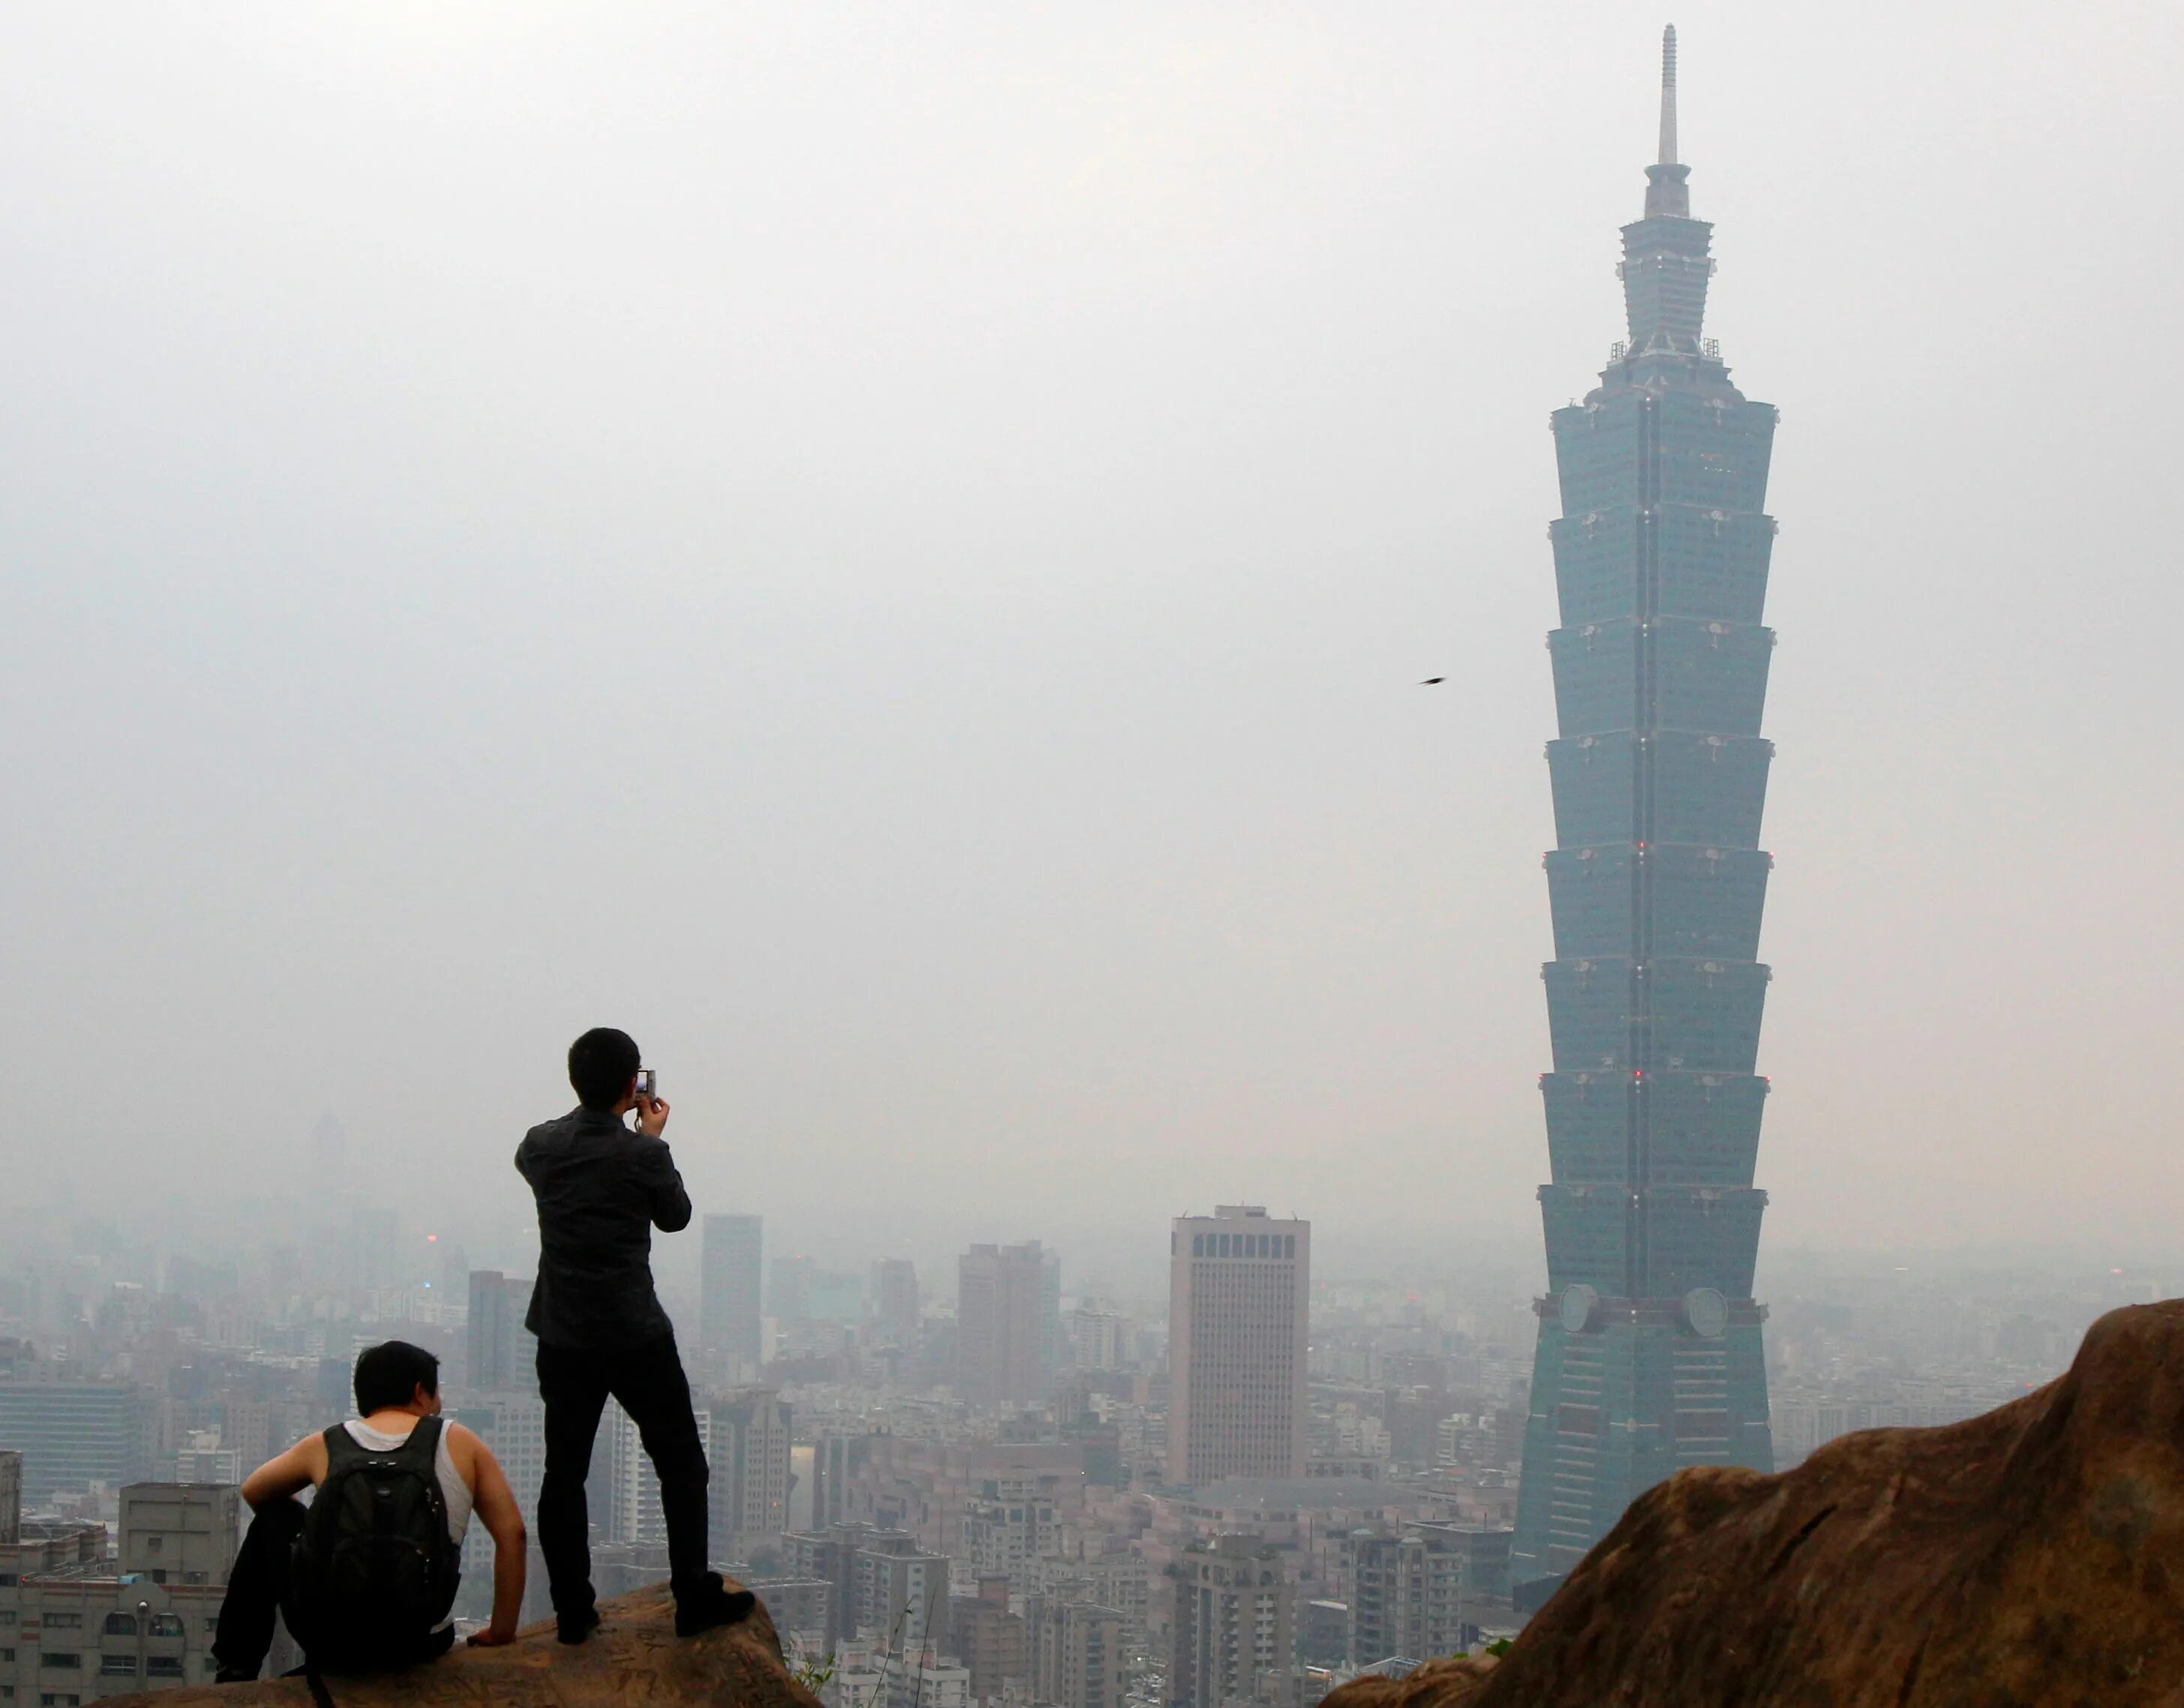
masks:
[[[1317,1273],[1310,1236],[1254,1206],[1177,1217],[1173,1293],[1105,1297],[1035,1238],[937,1271],[780,1254],[762,1217],[705,1214],[686,1236],[701,1284],[666,1302],[701,1387],[721,1566],[760,1590],[830,1708],[1286,1708],[1507,1636],[1538,1321],[1522,1276]],[[15,1701],[210,1675],[234,1485],[349,1411],[373,1341],[435,1350],[448,1413],[537,1496],[529,1278],[472,1269],[395,1208],[253,1249],[146,1249],[96,1217],[17,1219],[9,1243]],[[2171,1280],[1793,1254],[1769,1317],[1778,1463],[2016,1398],[2094,1315]],[[601,1433],[590,1501],[601,1592],[660,1581],[657,1490],[627,1420]],[[465,1559],[470,1623],[485,1546]]]

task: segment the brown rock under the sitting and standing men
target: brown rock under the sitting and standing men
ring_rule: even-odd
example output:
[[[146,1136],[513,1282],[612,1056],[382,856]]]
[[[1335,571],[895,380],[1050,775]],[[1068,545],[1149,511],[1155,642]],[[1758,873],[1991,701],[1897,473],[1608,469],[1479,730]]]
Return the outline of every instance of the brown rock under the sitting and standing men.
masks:
[[[725,1708],[819,1708],[819,1697],[782,1664],[782,1642],[764,1603],[743,1625],[675,1636],[666,1586],[598,1603],[590,1642],[555,1642],[553,1621],[531,1625],[500,1649],[456,1645],[406,1673],[328,1675],[336,1708],[607,1708],[609,1704],[716,1704]],[[181,1691],[109,1697],[138,1708],[310,1708],[299,1677],[256,1684],[192,1684]]]

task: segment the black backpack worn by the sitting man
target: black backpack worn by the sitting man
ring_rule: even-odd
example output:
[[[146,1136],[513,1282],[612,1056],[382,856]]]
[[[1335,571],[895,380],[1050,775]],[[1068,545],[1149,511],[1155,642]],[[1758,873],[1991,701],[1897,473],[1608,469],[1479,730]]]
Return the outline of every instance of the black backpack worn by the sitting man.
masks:
[[[391,1452],[325,1431],[325,1481],[295,1540],[288,1625],[314,1669],[376,1673],[428,1653],[463,1557],[439,1490],[439,1418]]]

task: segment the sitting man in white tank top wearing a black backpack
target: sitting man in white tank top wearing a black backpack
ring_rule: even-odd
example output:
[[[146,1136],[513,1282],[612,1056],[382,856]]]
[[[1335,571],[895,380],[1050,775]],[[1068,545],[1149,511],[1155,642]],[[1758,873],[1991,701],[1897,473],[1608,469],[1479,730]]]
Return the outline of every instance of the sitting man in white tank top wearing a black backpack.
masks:
[[[242,1483],[251,1527],[212,1645],[223,1684],[258,1677],[275,1608],[319,1671],[387,1671],[448,1653],[472,1511],[494,1538],[494,1621],[470,1640],[515,1638],[524,1516],[494,1450],[441,1422],[439,1359],[406,1341],[367,1348],[356,1411]],[[295,1498],[306,1487],[317,1490],[310,1507]]]

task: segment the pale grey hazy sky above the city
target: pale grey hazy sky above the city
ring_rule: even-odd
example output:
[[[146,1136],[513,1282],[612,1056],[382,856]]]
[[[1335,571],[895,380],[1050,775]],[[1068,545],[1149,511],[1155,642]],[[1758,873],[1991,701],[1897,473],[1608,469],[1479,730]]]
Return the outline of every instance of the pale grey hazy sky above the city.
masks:
[[[2169,1243],[2184,13],[1669,15],[1782,406],[1765,1245]],[[1662,22],[0,9],[0,1201],[334,1112],[505,1225],[607,1022],[841,1258],[1538,1241]]]

